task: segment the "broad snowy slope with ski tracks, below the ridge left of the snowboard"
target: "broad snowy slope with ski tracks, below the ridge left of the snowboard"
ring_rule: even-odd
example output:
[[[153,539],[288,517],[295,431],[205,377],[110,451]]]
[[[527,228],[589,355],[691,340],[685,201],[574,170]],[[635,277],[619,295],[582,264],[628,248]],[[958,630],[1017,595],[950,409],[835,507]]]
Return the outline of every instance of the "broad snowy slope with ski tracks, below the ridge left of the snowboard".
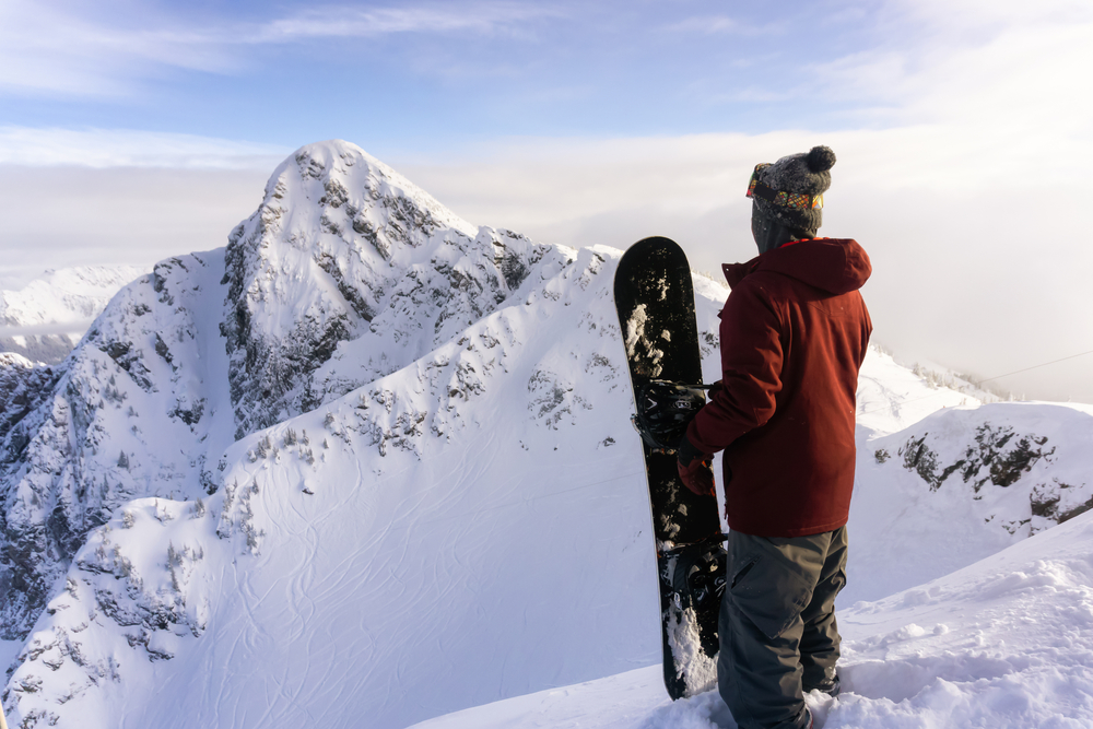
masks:
[[[110,578],[128,584],[121,592],[136,603],[109,611],[124,615],[121,623],[101,619],[86,628],[105,634],[96,645],[136,651],[117,669],[117,684],[103,682],[103,693],[109,695],[110,685],[143,685],[136,673],[146,670],[141,659],[155,659],[163,681],[181,681],[195,661],[226,668],[254,660],[283,667],[282,698],[272,699],[270,716],[368,712],[373,726],[393,727],[458,706],[454,702],[489,701],[498,686],[526,691],[559,677],[584,677],[585,661],[559,669],[576,654],[620,667],[657,660],[657,596],[649,577],[656,567],[640,447],[603,445],[628,428],[631,399],[618,374],[624,371],[610,299],[616,256],[583,250],[563,261],[554,278],[529,281],[510,305],[399,373],[234,444],[225,455],[228,466],[218,472],[221,486],[203,502],[204,516],[190,517],[186,504],[173,503],[185,516],[167,519],[160,537],[144,542],[161,545],[154,563],[141,566],[129,557],[133,566],[127,567],[124,545],[117,560],[108,546],[106,557],[93,562],[83,556],[97,554],[89,542],[70,577],[87,579],[89,564],[95,575],[114,569]],[[598,376],[580,376],[589,372]],[[537,403],[538,384],[560,392],[556,401]],[[497,402],[507,405],[500,410]],[[589,412],[603,414],[581,418]],[[125,518],[116,515],[108,533],[125,531]],[[168,537],[171,525],[183,519],[205,538]],[[138,519],[138,526],[156,521]],[[565,544],[551,536],[571,529],[578,536],[566,537]],[[209,593],[222,596],[208,620],[179,612],[202,604],[185,586],[178,599],[167,589],[169,544],[202,554],[188,584],[212,585]],[[622,562],[614,554],[620,549],[630,554]],[[506,557],[493,563],[496,574],[483,575],[490,557],[500,554]],[[246,568],[236,572],[242,567],[230,567],[233,561]],[[635,633],[633,620],[620,623],[599,611],[604,590],[631,592],[642,583],[649,605],[639,621],[644,631]],[[575,588],[560,612],[551,596]],[[260,597],[271,590],[281,597]],[[97,592],[82,595],[46,624],[105,612],[95,607]],[[162,620],[131,624],[145,613]],[[573,628],[550,639],[529,635],[530,644],[495,642],[528,623],[559,620]],[[31,640],[52,640],[55,633],[39,624]],[[267,642],[267,634],[283,639]],[[520,666],[527,650],[542,662]],[[235,659],[227,660],[233,651]],[[175,658],[161,660],[167,654]],[[454,675],[453,665],[475,670]],[[331,667],[351,666],[353,672],[338,681],[327,675]],[[79,705],[77,698],[56,704],[62,696],[48,686],[20,689],[47,670],[24,656],[12,678],[20,710],[62,716],[70,704]],[[213,721],[263,693],[259,685],[268,677],[246,673],[219,675],[216,681],[232,682],[231,690],[191,707],[189,716]],[[416,696],[414,703],[389,698],[406,692]],[[177,710],[171,701],[156,702],[137,716],[155,726]],[[259,717],[254,721],[261,725]]]

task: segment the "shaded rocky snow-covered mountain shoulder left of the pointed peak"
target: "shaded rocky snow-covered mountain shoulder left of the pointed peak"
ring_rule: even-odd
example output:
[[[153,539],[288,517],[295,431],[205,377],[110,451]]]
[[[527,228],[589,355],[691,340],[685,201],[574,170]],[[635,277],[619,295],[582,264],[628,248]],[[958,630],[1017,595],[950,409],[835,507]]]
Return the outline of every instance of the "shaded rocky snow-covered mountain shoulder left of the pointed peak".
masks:
[[[200,492],[223,344],[199,321],[222,266],[222,254],[158,264],[64,363],[24,377],[26,405],[4,408],[0,581],[12,589],[0,595],[0,635],[25,635],[89,530],[120,504]]]

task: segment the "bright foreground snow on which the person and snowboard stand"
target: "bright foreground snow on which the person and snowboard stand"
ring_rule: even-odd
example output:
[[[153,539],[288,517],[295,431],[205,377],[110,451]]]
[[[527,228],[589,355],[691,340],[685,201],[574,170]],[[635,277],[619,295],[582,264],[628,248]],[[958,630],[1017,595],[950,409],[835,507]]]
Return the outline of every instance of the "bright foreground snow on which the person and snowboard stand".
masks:
[[[825,729],[1093,725],[1093,516],[839,614],[843,694]],[[716,692],[670,702],[659,667],[439,717],[415,729],[731,729]],[[818,722],[819,724],[819,722]]]

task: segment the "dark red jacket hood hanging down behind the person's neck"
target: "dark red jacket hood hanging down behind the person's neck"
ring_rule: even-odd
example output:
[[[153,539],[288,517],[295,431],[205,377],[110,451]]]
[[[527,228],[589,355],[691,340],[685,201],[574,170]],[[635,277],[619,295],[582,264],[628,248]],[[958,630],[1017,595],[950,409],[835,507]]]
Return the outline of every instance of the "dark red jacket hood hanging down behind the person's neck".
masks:
[[[788,243],[747,263],[726,263],[721,271],[730,287],[756,271],[773,271],[830,294],[846,294],[861,289],[873,267],[857,240],[809,238]]]

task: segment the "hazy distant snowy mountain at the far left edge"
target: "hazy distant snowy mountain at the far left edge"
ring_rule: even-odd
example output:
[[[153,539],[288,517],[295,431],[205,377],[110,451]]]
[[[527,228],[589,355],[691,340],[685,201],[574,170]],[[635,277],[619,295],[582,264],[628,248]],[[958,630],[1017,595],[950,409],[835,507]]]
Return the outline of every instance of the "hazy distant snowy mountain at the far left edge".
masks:
[[[0,291],[0,352],[59,363],[114,294],[146,273],[137,266],[81,266],[46,271],[19,291]]]

